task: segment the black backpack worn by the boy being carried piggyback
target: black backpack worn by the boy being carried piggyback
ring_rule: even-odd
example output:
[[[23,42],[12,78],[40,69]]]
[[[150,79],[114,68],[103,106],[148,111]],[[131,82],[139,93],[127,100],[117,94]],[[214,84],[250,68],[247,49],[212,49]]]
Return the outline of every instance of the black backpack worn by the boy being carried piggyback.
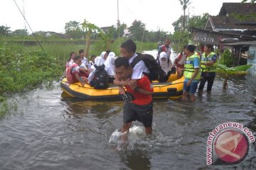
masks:
[[[146,74],[149,77],[150,81],[156,80],[159,76],[159,72],[161,70],[160,65],[156,62],[155,58],[152,55],[137,53],[137,57],[132,61],[130,66],[134,68],[134,66],[140,61],[144,61],[146,67],[149,69],[149,74]]]

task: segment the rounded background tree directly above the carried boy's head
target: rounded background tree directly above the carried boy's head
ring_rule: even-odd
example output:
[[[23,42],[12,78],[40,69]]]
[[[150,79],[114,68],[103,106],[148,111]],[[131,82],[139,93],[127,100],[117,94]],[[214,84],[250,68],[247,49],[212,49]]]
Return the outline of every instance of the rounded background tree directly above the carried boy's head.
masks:
[[[142,41],[142,36],[144,34],[145,24],[142,21],[135,20],[132,26],[129,27],[129,32],[131,33],[131,38],[133,40]]]

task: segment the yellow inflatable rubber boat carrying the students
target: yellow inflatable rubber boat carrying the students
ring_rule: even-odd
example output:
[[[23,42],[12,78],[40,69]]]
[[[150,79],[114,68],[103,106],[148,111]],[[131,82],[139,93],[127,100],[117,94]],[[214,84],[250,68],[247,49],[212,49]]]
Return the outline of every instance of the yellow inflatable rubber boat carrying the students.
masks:
[[[176,80],[174,80],[176,79]],[[184,77],[177,79],[176,74],[169,77],[170,82],[160,83],[153,81],[153,98],[180,98],[183,93]],[[69,84],[67,79],[62,79],[60,88],[69,96],[85,100],[110,100],[120,99],[118,86],[110,85],[107,89],[94,89],[89,84],[81,86],[80,82]]]

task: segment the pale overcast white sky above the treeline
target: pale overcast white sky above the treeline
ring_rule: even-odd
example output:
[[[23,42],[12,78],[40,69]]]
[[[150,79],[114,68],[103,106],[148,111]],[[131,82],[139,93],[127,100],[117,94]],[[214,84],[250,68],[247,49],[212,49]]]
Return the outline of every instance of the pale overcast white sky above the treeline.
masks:
[[[117,24],[117,0],[15,0],[33,31],[55,31],[64,33],[65,23],[84,19],[96,26]],[[132,22],[142,21],[147,30],[173,33],[172,23],[182,14],[178,0],[118,0],[119,21],[131,26]],[[191,0],[188,6],[190,16],[210,13],[218,15],[223,2],[242,0]],[[188,11],[186,11],[188,13]],[[24,20],[14,0],[0,0],[0,26],[11,30],[24,29]],[[26,26],[29,30],[28,26]],[[31,33],[31,31],[29,30]]]

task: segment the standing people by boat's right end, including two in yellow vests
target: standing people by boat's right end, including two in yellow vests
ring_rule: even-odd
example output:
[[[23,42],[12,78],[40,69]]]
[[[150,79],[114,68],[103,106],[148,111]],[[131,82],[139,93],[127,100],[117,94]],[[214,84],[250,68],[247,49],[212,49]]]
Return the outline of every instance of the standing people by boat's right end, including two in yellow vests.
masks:
[[[170,42],[169,39],[166,39],[164,45],[159,47],[159,64],[162,72],[166,73],[159,75],[159,81],[166,81],[171,74],[171,69],[176,68],[178,78],[185,77],[183,100],[186,100],[189,94],[191,101],[196,101],[195,93],[197,88],[198,94],[203,94],[206,82],[208,82],[206,91],[210,93],[215,79],[215,72],[217,71],[218,59],[217,55],[213,52],[213,45],[204,45],[201,55],[199,52],[196,52],[195,45],[184,45],[183,51],[176,56],[174,63],[171,64]]]

